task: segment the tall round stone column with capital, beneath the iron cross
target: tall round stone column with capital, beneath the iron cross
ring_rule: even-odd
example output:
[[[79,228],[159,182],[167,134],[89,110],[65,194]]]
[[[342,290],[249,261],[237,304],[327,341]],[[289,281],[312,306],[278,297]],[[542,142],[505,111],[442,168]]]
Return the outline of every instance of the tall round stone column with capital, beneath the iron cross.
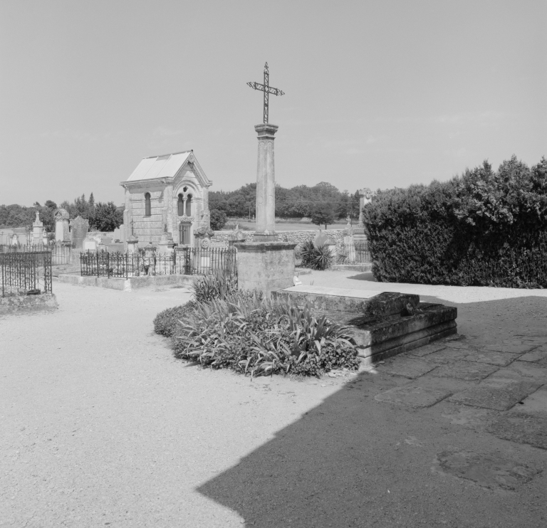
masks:
[[[277,125],[264,123],[254,127],[259,139],[256,167],[256,241],[276,240],[276,173],[273,166],[273,135]]]

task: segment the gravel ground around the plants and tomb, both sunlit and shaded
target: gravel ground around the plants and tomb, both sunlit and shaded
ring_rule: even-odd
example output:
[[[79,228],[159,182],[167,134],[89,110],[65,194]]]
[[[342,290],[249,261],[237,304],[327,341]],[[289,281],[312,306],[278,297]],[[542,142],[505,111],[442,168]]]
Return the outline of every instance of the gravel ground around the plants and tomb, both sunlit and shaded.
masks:
[[[474,342],[547,336],[543,290],[358,275],[303,280],[437,297]],[[409,383],[387,369],[251,382],[186,366],[152,332],[184,290],[53,287],[58,311],[0,318],[0,527],[546,523],[547,451],[487,433],[481,412],[381,403]],[[451,449],[483,457],[490,488],[439,470]]]

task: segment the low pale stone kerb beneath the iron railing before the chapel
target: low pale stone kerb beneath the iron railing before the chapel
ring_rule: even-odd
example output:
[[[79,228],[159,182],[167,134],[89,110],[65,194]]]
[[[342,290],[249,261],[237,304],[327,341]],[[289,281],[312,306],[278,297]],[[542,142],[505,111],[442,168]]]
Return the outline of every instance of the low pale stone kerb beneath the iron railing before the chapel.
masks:
[[[106,278],[106,277],[82,277],[75,274],[61,274],[58,281],[65,284],[79,286],[104,287],[109,290],[130,292],[146,287],[159,286],[192,286],[201,275],[145,275],[143,277]]]

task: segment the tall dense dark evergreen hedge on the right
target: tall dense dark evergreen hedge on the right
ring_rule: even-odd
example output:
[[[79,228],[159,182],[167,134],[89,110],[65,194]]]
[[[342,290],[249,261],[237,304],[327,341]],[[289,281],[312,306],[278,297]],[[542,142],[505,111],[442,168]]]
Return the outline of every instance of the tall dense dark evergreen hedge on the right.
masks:
[[[545,157],[378,191],[363,213],[377,280],[547,287]]]

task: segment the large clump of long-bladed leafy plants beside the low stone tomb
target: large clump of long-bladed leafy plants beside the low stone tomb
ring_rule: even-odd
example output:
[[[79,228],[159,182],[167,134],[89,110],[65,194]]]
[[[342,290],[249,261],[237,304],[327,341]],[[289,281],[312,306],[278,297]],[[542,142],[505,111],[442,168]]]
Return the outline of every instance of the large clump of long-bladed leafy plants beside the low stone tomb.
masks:
[[[236,292],[197,304],[174,336],[176,357],[251,376],[321,376],[331,369],[358,369],[350,336],[325,315],[288,300]]]

